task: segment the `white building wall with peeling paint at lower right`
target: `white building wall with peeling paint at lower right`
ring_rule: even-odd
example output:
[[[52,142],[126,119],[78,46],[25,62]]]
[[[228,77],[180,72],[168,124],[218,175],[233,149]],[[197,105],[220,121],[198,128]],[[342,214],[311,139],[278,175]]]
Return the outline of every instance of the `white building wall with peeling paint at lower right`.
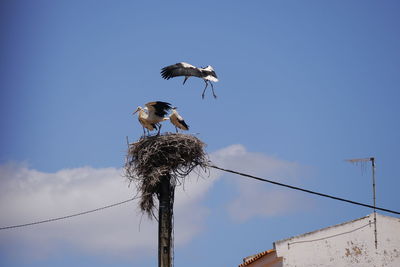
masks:
[[[275,242],[284,267],[400,267],[400,219],[373,214],[358,220]]]

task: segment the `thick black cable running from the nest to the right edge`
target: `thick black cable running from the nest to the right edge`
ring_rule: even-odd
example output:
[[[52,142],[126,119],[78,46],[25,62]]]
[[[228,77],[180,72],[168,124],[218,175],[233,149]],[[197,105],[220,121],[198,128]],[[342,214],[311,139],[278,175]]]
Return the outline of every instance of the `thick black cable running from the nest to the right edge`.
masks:
[[[214,169],[218,169],[218,170],[221,170],[221,171],[230,172],[230,173],[233,173],[233,174],[245,176],[245,177],[248,177],[248,178],[251,178],[251,179],[255,179],[255,180],[259,180],[259,181],[262,181],[262,182],[267,182],[267,183],[271,183],[271,184],[275,184],[275,185],[279,185],[279,186],[284,186],[284,187],[287,187],[287,188],[290,188],[290,189],[303,191],[303,192],[306,192],[306,193],[309,193],[309,194],[318,195],[318,196],[321,196],[321,197],[332,198],[332,199],[335,199],[335,200],[348,202],[348,203],[351,203],[351,204],[354,204],[354,205],[364,206],[364,207],[371,208],[371,209],[375,208],[377,210],[386,211],[386,212],[390,212],[390,213],[394,213],[394,214],[400,214],[400,212],[398,212],[398,211],[379,208],[379,207],[374,207],[372,205],[356,202],[356,201],[353,201],[353,200],[348,200],[348,199],[335,197],[335,196],[331,196],[331,195],[327,195],[327,194],[323,194],[323,193],[318,193],[318,192],[311,191],[311,190],[308,190],[308,189],[304,189],[304,188],[300,188],[300,187],[296,187],[296,186],[283,184],[283,183],[275,182],[275,181],[272,181],[272,180],[267,180],[267,179],[264,179],[264,178],[256,177],[256,176],[253,176],[253,175],[250,175],[250,174],[246,174],[246,173],[241,173],[241,172],[237,172],[237,171],[233,171],[233,170],[220,168],[220,167],[215,166],[215,165],[209,165],[209,167],[214,168]]]

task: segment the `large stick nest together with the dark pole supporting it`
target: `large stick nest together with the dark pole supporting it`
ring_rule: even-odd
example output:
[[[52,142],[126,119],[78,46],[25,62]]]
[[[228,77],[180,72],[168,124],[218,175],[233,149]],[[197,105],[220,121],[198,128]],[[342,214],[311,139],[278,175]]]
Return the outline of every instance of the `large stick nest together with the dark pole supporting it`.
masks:
[[[158,266],[174,265],[173,204],[175,186],[200,167],[206,170],[205,144],[193,135],[163,134],[146,136],[129,144],[125,173],[135,182],[141,198],[140,209],[154,216],[158,205]],[[160,173],[163,173],[160,177]],[[164,175],[165,174],[165,175]],[[178,184],[179,184],[178,183]]]

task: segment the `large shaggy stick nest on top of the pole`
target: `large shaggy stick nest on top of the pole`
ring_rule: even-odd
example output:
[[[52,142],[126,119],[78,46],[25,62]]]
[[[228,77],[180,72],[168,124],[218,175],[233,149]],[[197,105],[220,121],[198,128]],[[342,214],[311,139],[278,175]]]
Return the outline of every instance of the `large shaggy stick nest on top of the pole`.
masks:
[[[172,192],[178,180],[196,167],[206,170],[205,144],[187,134],[164,134],[143,137],[129,144],[125,175],[134,182],[141,195],[140,209],[151,218],[158,197],[160,179],[170,175]]]

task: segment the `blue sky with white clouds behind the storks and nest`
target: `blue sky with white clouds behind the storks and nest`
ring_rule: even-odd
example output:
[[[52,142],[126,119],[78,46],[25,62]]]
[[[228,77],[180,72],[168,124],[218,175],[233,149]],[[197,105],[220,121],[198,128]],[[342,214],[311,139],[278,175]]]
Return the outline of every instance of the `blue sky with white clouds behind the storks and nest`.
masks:
[[[130,198],[126,136],[140,137],[132,112],[154,100],[178,106],[221,167],[323,193],[371,203],[370,169],[344,159],[374,156],[377,204],[399,210],[399,8],[2,1],[1,226]],[[160,77],[180,61],[215,68],[216,100],[201,99],[200,79],[183,86]],[[175,203],[176,266],[236,266],[276,240],[371,212],[214,170],[195,177]],[[143,218],[140,232],[139,223],[131,203],[2,231],[0,258],[5,266],[154,266],[156,223]]]

